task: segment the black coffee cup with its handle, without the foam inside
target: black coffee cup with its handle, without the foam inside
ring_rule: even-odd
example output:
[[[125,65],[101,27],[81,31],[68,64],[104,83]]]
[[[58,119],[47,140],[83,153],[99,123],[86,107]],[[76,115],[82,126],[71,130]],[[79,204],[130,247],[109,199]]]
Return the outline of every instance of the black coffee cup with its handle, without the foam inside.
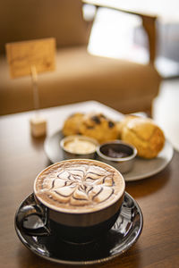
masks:
[[[60,207],[56,207],[55,209],[55,205],[48,204],[47,200],[44,201],[42,198],[38,197],[36,187],[38,178],[50,171],[50,169],[71,163],[82,163],[85,164],[85,166],[94,164],[95,166],[107,168],[108,171],[114,172],[115,180],[120,181],[120,191],[114,193],[111,191],[111,195],[115,195],[114,198],[110,196],[112,201],[107,204],[101,203],[97,208],[94,206],[94,208],[87,209],[86,211],[85,208],[78,210],[72,210],[71,208],[70,211],[68,211],[68,209],[61,209]],[[114,181],[113,183],[115,183]],[[114,185],[111,184],[110,187],[114,188]],[[31,205],[21,207],[17,215],[18,228],[32,236],[50,235],[51,232],[54,232],[59,239],[64,239],[72,243],[86,243],[97,239],[114,225],[124,200],[124,188],[125,183],[123,175],[107,163],[87,159],[72,159],[55,163],[38,174],[34,182],[35,202],[33,201]],[[39,224],[33,224],[32,228],[26,226],[26,219],[32,215],[38,216],[41,226],[39,226]]]

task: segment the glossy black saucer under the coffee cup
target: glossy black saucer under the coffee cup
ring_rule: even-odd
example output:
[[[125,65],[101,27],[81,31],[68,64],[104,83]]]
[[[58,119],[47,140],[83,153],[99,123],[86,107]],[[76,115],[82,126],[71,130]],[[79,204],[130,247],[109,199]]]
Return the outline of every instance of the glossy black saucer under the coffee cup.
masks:
[[[70,244],[55,236],[29,236],[17,227],[21,206],[34,202],[33,194],[20,205],[15,215],[15,230],[21,242],[33,253],[59,264],[98,264],[123,254],[140,237],[143,217],[136,201],[125,192],[121,213],[115,225],[102,238],[88,244]],[[35,220],[38,221],[38,218]],[[36,222],[40,224],[40,222]]]

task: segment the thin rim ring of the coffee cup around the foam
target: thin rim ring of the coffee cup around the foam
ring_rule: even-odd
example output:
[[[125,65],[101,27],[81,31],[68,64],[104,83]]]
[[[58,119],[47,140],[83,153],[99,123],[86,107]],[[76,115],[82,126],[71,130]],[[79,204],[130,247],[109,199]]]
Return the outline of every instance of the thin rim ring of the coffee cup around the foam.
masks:
[[[53,163],[49,166],[47,166],[47,168],[45,168],[44,170],[42,170],[41,172],[38,173],[36,179],[34,180],[34,183],[33,183],[33,192],[34,192],[34,195],[36,198],[38,198],[38,201],[40,203],[42,203],[43,205],[47,206],[48,209],[50,210],[53,210],[57,213],[62,213],[62,214],[93,214],[93,213],[97,213],[98,211],[100,210],[105,210],[107,209],[107,207],[110,207],[111,205],[115,205],[115,203],[117,203],[123,196],[124,196],[124,191],[125,191],[125,180],[124,180],[124,176],[121,172],[119,172],[117,169],[115,169],[114,166],[111,166],[110,164],[108,163],[103,163],[105,165],[107,165],[110,169],[115,169],[115,172],[117,172],[121,178],[121,180],[123,181],[122,182],[122,185],[121,185],[121,189],[120,189],[120,196],[118,196],[118,198],[115,198],[112,202],[110,202],[110,204],[108,205],[105,205],[104,207],[98,207],[97,209],[94,209],[94,210],[91,210],[91,211],[69,211],[68,209],[65,209],[65,208],[57,208],[55,207],[55,205],[49,205],[47,203],[47,201],[43,200],[42,198],[38,197],[37,195],[37,189],[36,189],[36,182],[38,180],[38,177],[40,176],[40,174],[42,172],[45,172],[47,171],[47,169],[59,164],[59,163],[64,163],[64,162],[72,162],[72,161],[77,161],[77,162],[80,162],[80,161],[84,161],[84,162],[95,162],[95,163],[100,163],[101,164],[101,161],[98,161],[98,160],[93,160],[93,159],[84,159],[84,158],[78,158],[78,159],[67,159],[67,160],[63,160],[63,161],[60,161],[60,162],[57,162],[57,163]]]

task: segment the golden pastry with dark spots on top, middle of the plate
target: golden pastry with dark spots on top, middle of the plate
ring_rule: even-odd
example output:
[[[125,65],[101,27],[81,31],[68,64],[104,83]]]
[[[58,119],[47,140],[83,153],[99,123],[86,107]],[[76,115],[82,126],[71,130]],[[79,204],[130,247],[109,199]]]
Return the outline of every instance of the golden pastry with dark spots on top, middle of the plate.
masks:
[[[81,135],[95,138],[99,143],[118,138],[116,122],[107,118],[103,113],[88,113],[81,121]]]

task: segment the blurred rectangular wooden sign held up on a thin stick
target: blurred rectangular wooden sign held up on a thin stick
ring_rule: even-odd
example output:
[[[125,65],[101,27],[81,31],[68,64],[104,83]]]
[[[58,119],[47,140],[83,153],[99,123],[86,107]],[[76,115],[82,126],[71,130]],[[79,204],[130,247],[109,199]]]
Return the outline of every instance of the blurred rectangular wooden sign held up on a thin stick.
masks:
[[[12,78],[55,70],[55,38],[36,39],[5,45],[7,61]]]

